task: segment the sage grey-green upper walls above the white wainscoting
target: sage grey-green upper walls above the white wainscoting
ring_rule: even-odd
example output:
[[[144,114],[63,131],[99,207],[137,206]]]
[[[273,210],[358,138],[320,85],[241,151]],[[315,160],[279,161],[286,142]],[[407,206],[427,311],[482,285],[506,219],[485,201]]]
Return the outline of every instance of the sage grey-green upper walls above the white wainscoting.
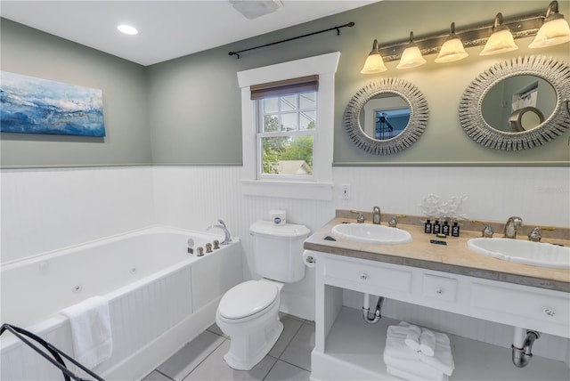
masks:
[[[568,18],[570,2],[559,4],[560,12]],[[486,149],[472,141],[461,129],[458,117],[464,89],[489,66],[525,54],[544,54],[568,61],[567,44],[530,50],[526,46],[531,39],[526,38],[517,40],[520,49],[516,53],[479,57],[482,47],[475,47],[468,49],[470,55],[466,60],[436,64],[435,56],[431,55],[427,57],[428,64],[408,70],[395,69],[397,62],[388,62],[388,71],[382,77],[411,81],[424,93],[429,105],[426,132],[410,149],[398,154],[378,157],[359,150],[349,140],[342,122],[347,102],[362,85],[375,78],[360,74],[374,38],[386,44],[405,39],[411,29],[416,36],[422,36],[444,31],[452,21],[459,29],[492,22],[497,12],[503,12],[505,19],[509,19],[528,12],[545,12],[547,6],[544,1],[383,1],[147,68],[3,22],[2,69],[102,88],[109,132],[104,142],[79,144],[46,142],[35,136],[6,139],[4,134],[3,165],[120,165],[146,164],[150,160],[157,165],[240,165],[240,91],[236,72],[334,51],[342,53],[334,110],[336,166],[567,162],[568,132],[533,150],[504,152]],[[341,29],[340,36],[334,31],[309,36],[243,53],[240,60],[228,55],[229,51],[349,21],[356,25]],[[143,114],[146,109],[148,118]]]

